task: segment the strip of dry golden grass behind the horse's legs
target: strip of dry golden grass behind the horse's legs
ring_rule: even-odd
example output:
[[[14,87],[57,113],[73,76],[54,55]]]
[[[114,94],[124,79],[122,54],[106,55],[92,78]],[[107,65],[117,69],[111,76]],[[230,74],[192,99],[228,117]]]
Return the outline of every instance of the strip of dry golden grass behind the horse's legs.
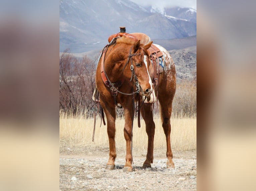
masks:
[[[160,117],[154,119],[155,139],[154,150],[166,149],[165,135],[162,129]],[[175,151],[194,150],[197,147],[196,117],[172,117],[171,118],[171,146]],[[96,120],[95,139],[92,142],[94,119],[86,119],[85,116],[70,117],[67,114],[60,114],[59,136],[60,148],[86,146],[91,148],[108,148],[107,127],[102,124],[100,127],[100,118]],[[116,120],[116,148],[125,150],[126,142],[123,134],[124,119]],[[141,120],[141,128],[137,126],[137,120],[134,120],[133,128],[133,148],[135,150],[147,149],[147,134],[145,123]]]

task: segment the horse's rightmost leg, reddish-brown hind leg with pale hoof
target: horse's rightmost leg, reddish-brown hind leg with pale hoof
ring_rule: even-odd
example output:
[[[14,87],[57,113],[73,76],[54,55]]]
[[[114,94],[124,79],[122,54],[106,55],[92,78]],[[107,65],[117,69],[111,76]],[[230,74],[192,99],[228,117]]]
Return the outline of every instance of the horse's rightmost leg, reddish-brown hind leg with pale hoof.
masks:
[[[160,101],[160,99],[159,99]],[[161,104],[161,101],[160,101]],[[170,134],[171,134],[171,123],[170,123],[170,117],[171,117],[171,108],[172,104],[161,104],[161,113],[162,113],[162,126],[163,131],[166,137],[166,157],[168,159],[166,165],[167,168],[174,168],[174,163],[172,161],[172,151],[171,151],[171,140],[170,140]]]

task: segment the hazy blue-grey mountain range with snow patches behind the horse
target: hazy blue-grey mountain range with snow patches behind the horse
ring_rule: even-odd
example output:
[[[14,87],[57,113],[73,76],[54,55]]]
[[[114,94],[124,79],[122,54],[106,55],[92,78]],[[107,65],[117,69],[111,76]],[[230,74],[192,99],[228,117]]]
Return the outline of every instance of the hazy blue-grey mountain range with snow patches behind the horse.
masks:
[[[81,53],[102,49],[120,26],[142,32],[151,39],[176,39],[196,35],[196,10],[141,7],[129,0],[60,0],[60,52]],[[179,10],[178,10],[179,9]],[[192,11],[191,11],[192,10]]]

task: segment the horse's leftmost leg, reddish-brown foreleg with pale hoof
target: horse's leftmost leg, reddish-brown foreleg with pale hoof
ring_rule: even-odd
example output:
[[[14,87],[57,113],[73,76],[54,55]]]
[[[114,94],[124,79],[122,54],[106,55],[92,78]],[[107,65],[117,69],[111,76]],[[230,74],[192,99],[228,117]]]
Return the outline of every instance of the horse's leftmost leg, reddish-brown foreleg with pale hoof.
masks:
[[[111,107],[106,104],[106,102],[101,101],[101,106],[105,111],[107,118],[107,132],[109,138],[109,160],[107,162],[107,170],[113,170],[115,168],[115,159],[116,159],[116,143],[115,143],[115,120],[116,120],[116,110],[115,106]]]

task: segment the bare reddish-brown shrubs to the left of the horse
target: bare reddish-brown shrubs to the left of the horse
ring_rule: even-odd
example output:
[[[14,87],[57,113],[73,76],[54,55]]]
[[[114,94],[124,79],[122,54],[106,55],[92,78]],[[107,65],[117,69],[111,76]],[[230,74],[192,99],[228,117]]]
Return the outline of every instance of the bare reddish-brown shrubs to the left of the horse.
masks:
[[[59,59],[59,109],[73,114],[92,110],[96,65],[65,50]]]

